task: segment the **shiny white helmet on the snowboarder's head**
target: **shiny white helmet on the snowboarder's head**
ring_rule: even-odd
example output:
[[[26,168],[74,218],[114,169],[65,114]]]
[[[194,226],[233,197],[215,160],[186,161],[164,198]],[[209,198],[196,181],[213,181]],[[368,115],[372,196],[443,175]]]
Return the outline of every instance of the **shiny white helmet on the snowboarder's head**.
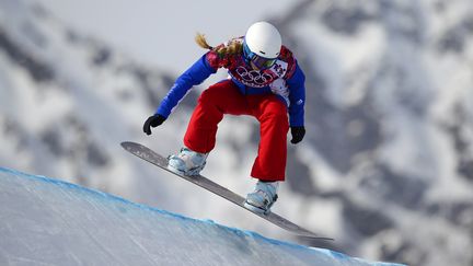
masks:
[[[282,42],[275,26],[261,21],[249,27],[244,44],[252,53],[264,58],[274,59],[279,56]]]

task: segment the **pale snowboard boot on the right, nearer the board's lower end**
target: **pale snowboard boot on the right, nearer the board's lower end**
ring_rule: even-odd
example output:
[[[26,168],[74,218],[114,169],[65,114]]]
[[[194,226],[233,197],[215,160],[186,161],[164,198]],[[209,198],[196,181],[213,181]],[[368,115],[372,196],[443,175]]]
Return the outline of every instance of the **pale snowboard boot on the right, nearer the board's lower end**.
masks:
[[[258,181],[254,192],[246,196],[245,208],[264,215],[269,213],[270,207],[277,200],[278,186],[279,182]]]

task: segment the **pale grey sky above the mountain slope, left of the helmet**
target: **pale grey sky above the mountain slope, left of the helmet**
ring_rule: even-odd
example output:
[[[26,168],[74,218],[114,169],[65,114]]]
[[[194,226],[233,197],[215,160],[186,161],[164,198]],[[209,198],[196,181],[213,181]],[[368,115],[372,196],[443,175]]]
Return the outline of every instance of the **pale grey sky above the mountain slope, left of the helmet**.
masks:
[[[151,67],[181,72],[205,53],[197,32],[210,45],[244,35],[254,22],[274,18],[298,1],[30,0],[80,33],[117,47]]]

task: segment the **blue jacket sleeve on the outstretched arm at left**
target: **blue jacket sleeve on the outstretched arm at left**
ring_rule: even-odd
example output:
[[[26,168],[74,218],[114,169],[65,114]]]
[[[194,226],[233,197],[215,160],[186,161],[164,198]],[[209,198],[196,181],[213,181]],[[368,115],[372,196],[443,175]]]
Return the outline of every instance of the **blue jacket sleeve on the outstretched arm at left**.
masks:
[[[200,84],[215,72],[217,72],[217,69],[209,65],[207,54],[200,57],[191,68],[176,79],[174,85],[168,92],[168,95],[161,101],[155,114],[169,117],[191,88]]]

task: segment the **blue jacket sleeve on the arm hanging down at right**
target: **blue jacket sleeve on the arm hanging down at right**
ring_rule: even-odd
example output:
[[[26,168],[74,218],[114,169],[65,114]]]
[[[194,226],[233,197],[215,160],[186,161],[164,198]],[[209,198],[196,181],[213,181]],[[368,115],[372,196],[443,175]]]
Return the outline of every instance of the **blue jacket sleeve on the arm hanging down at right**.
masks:
[[[289,125],[298,127],[304,125],[304,104],[305,104],[305,76],[296,66],[296,70],[287,84],[289,86]]]

